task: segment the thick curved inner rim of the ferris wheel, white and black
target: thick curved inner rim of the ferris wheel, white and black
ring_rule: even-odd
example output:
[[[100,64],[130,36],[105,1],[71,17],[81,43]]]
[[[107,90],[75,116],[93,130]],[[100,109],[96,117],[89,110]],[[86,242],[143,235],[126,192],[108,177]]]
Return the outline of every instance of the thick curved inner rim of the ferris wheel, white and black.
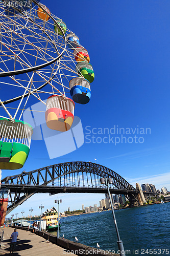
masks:
[[[30,0],[31,2],[33,2],[35,5],[37,5],[38,7],[40,7],[43,12],[48,15],[54,22],[54,24],[59,27],[62,35],[63,35],[63,38],[64,38],[64,48],[63,48],[63,51],[54,59],[52,59],[51,61],[48,61],[46,63],[43,63],[41,65],[38,65],[38,66],[35,66],[35,67],[30,67],[30,68],[27,68],[27,69],[22,69],[22,70],[15,70],[15,71],[8,71],[8,72],[0,72],[0,77],[7,77],[7,76],[12,76],[12,75],[19,75],[19,74],[25,74],[25,73],[28,73],[28,72],[32,72],[32,71],[35,71],[35,70],[39,70],[39,69],[42,69],[42,68],[45,68],[51,64],[53,64],[55,61],[57,61],[58,59],[61,58],[61,56],[63,55],[63,53],[65,52],[65,49],[66,49],[66,36],[62,30],[62,28],[60,27],[60,25],[56,22],[56,20],[53,18],[53,16],[48,13],[42,5],[40,5],[39,3],[37,3],[35,0]],[[13,7],[14,9],[17,9],[15,7]],[[22,13],[22,11],[21,11]],[[31,20],[31,22],[33,22],[33,20]],[[45,33],[45,32],[44,32]],[[48,36],[49,37],[49,36]]]

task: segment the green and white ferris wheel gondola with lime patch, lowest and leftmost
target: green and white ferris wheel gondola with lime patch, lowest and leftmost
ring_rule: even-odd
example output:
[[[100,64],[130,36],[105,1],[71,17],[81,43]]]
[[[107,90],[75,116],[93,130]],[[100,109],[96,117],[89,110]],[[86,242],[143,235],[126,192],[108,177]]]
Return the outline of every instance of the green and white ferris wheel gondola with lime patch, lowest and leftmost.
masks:
[[[20,120],[0,118],[0,169],[19,169],[25,164],[33,128]]]

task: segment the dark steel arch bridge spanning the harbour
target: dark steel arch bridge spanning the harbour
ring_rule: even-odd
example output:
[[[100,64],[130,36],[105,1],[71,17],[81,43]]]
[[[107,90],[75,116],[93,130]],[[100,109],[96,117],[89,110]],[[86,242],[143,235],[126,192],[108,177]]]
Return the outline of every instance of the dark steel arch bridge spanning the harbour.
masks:
[[[131,205],[139,203],[139,191],[113,170],[92,162],[66,162],[4,178],[1,188],[10,189],[7,214],[35,193],[107,193],[100,183],[106,177],[113,179],[112,194],[126,195]]]

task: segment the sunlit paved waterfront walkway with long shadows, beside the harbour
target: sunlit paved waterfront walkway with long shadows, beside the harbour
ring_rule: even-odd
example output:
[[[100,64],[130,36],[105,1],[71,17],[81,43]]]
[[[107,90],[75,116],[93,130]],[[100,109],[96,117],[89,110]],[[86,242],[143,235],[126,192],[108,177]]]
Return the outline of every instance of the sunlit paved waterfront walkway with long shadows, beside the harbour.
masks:
[[[11,241],[10,236],[13,231],[13,228],[4,228],[4,238],[1,243],[0,255],[9,255],[9,247]],[[64,256],[64,249],[58,245],[46,241],[44,238],[39,237],[30,231],[21,229],[17,229],[17,231],[18,239],[13,256]],[[76,255],[71,254],[71,256]]]

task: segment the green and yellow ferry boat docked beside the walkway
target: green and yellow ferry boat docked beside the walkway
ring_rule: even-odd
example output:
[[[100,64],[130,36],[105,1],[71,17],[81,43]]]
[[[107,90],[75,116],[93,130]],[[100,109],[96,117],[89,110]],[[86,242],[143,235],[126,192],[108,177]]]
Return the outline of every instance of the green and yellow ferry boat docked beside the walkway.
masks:
[[[55,207],[53,207],[51,210],[46,210],[43,212],[42,219],[46,220],[46,229],[47,231],[54,231],[58,229],[58,213]],[[61,227],[61,224],[59,223],[59,229]]]

